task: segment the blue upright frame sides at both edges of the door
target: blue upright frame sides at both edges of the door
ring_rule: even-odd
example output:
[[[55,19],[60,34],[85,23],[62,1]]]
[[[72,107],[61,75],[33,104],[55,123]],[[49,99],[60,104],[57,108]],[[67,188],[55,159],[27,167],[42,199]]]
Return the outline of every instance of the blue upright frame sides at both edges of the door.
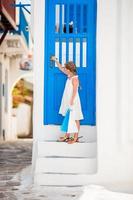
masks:
[[[76,0],[75,0],[76,1]],[[93,56],[94,56],[94,59],[92,59],[92,63],[94,65],[93,69],[92,69],[92,76],[94,78],[94,83],[92,84],[92,90],[93,90],[93,97],[91,100],[94,100],[94,122],[92,124],[86,124],[86,125],[90,125],[90,126],[95,126],[96,125],[96,27],[97,27],[97,0],[91,0],[92,1],[92,6],[93,6],[93,9],[95,10],[94,12],[94,16],[92,17],[92,19],[94,20],[94,24],[93,25],[93,30],[92,30],[92,34],[91,34],[91,43],[93,41],[93,44],[94,44],[94,48],[93,48]],[[94,2],[93,2],[94,1]],[[49,35],[48,33],[50,32],[50,24],[49,24],[49,12],[46,10],[47,9],[47,5],[46,5],[46,1],[45,1],[45,18],[44,18],[44,22],[45,22],[45,43],[44,43],[44,47],[46,49],[46,47],[48,46],[48,39],[49,39]],[[93,15],[93,13],[92,13]],[[47,20],[48,20],[48,24],[47,24]],[[92,39],[92,35],[94,35],[94,38]],[[92,45],[92,44],[91,44]],[[50,61],[49,61],[49,51],[45,50],[45,53],[44,53],[44,66],[46,65],[50,65]],[[48,104],[48,97],[47,97],[47,81],[48,81],[48,67],[44,67],[44,101],[43,101],[43,124],[44,125],[48,125],[48,119],[47,119],[47,106],[46,104]],[[58,124],[57,124],[58,125]]]

